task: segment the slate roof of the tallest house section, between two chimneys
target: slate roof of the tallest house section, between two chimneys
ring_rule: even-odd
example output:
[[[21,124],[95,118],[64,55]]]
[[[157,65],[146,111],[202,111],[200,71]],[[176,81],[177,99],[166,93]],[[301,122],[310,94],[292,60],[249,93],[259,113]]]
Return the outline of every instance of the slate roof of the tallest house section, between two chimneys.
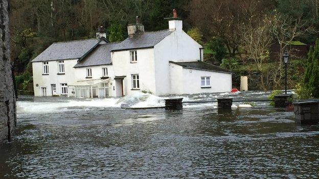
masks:
[[[153,47],[172,32],[174,31],[170,31],[169,29],[153,32],[141,32],[135,34],[133,37],[125,39],[121,42],[120,46],[113,48],[112,51]]]

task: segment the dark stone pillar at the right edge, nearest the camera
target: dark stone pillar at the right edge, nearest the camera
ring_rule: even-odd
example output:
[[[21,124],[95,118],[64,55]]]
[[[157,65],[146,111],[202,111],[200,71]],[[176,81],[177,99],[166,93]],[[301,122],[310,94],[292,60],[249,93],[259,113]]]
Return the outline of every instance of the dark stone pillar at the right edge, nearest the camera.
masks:
[[[319,122],[319,101],[300,101],[293,103],[296,122],[317,124]]]

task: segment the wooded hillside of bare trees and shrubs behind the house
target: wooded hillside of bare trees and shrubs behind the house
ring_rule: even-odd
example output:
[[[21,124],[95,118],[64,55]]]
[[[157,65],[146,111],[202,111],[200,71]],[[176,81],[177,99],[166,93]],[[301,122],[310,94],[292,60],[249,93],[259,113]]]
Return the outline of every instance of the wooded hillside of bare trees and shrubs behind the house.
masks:
[[[257,89],[284,85],[282,54],[288,45],[313,45],[319,32],[318,1],[312,0],[15,0],[10,1],[12,61],[18,87],[32,83],[30,61],[50,44],[94,38],[99,25],[109,41],[127,37],[139,15],[146,31],[167,29],[165,17],[177,9],[184,31],[205,49],[205,59],[249,75]],[[298,42],[300,41],[300,42]],[[279,53],[270,59],[270,47]],[[289,52],[293,54],[293,52]],[[303,79],[307,60],[289,62],[289,88]]]

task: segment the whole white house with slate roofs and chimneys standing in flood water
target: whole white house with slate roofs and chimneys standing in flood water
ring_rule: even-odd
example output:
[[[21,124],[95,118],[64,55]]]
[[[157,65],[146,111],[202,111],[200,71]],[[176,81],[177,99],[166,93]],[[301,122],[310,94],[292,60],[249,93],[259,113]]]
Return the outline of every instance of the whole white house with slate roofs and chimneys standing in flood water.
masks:
[[[232,72],[203,62],[203,47],[183,31],[173,11],[169,29],[145,32],[136,17],[128,38],[109,43],[101,29],[96,39],[53,43],[32,60],[36,96],[124,96],[228,92]]]

